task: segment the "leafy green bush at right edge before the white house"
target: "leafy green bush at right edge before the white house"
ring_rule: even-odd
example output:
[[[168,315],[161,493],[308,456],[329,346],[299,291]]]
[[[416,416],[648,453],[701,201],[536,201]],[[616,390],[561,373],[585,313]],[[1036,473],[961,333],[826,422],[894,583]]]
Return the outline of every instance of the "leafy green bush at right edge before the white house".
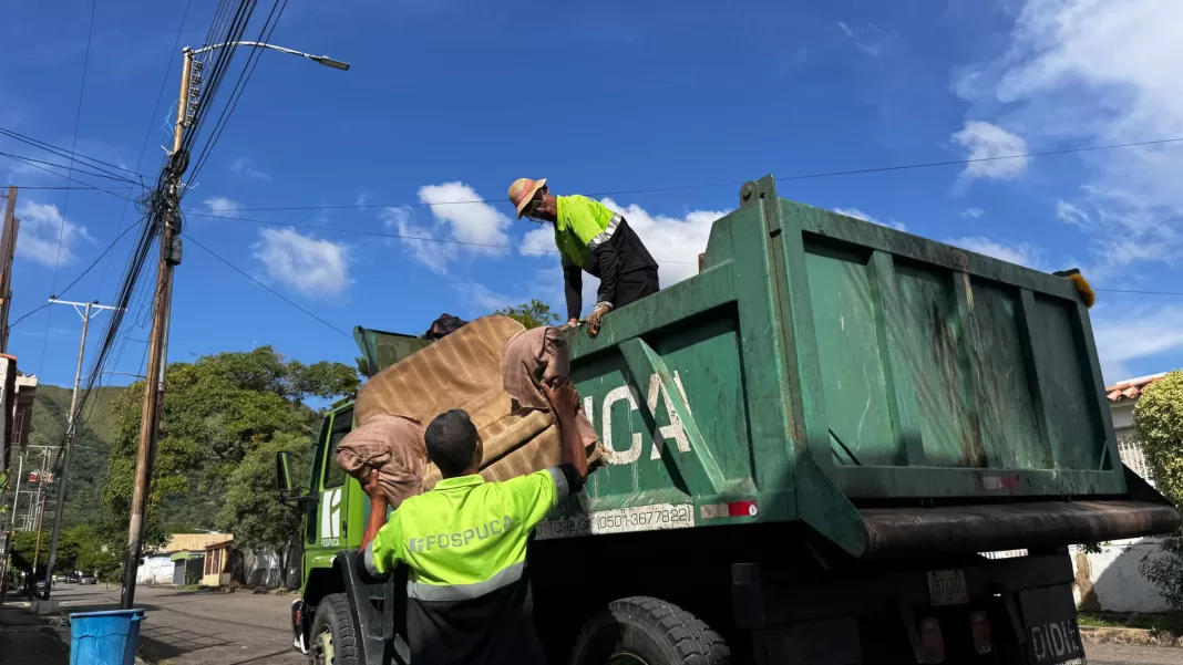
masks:
[[[1156,488],[1183,506],[1183,372],[1171,372],[1143,391],[1133,423]],[[1183,611],[1183,530],[1163,539],[1163,554],[1144,559],[1139,568],[1174,609]]]

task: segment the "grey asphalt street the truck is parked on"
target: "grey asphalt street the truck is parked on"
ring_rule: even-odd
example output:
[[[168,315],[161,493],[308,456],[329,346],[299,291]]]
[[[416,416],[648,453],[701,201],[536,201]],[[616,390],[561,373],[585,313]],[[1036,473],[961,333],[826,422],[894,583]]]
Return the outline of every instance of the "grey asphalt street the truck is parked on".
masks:
[[[66,612],[111,609],[118,587],[58,585]],[[136,607],[146,608],[141,652],[169,665],[297,665],[287,627],[292,596],[199,593],[140,587]],[[1183,648],[1091,644],[1090,665],[1179,665]]]

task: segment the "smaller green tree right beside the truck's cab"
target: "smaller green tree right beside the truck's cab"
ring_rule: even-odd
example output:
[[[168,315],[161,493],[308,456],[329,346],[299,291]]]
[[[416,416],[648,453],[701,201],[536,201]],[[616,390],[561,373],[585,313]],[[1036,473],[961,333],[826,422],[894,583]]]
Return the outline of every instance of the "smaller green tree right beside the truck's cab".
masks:
[[[232,532],[235,545],[256,550],[274,548],[283,580],[302,537],[304,514],[280,503],[279,494],[265,488],[274,484],[277,452],[290,452],[296,467],[292,476],[306,477],[308,449],[306,436],[279,432],[247,452],[230,476],[226,502],[218,514],[218,527]]]

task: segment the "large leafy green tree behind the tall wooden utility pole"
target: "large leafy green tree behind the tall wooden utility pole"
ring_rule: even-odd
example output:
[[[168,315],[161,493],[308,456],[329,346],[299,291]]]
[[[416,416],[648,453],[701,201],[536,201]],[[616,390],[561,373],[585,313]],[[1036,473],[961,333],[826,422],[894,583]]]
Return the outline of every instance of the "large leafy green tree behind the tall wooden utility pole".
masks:
[[[164,501],[185,497],[186,503],[206,507],[206,514],[192,515],[185,527],[212,528],[218,510],[208,507],[221,504],[231,477],[253,450],[280,435],[308,441],[316,413],[304,404],[305,398],[329,399],[351,393],[357,385],[353,367],[286,361],[270,346],[169,365],[144,545],[162,545],[174,527],[160,520]],[[101,516],[102,533],[110,534],[112,549],[127,546],[142,400],[143,384],[136,383],[114,405],[118,435],[111,446]],[[270,481],[263,485],[270,487]],[[237,524],[233,528],[237,536]]]

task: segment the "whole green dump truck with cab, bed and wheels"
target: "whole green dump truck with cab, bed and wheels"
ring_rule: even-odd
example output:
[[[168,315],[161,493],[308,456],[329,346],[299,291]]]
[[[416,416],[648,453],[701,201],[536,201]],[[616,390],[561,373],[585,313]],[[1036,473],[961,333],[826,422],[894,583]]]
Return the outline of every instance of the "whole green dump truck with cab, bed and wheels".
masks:
[[[569,333],[612,455],[536,529],[548,657],[1085,663],[1067,546],[1179,515],[1118,457],[1073,283],[778,198],[771,177],[739,198],[698,275]],[[375,369],[424,344],[360,334]],[[295,497],[295,646],[402,663],[403,582],[358,578],[368,502],[332,463],[351,426],[350,404],[329,415]]]

